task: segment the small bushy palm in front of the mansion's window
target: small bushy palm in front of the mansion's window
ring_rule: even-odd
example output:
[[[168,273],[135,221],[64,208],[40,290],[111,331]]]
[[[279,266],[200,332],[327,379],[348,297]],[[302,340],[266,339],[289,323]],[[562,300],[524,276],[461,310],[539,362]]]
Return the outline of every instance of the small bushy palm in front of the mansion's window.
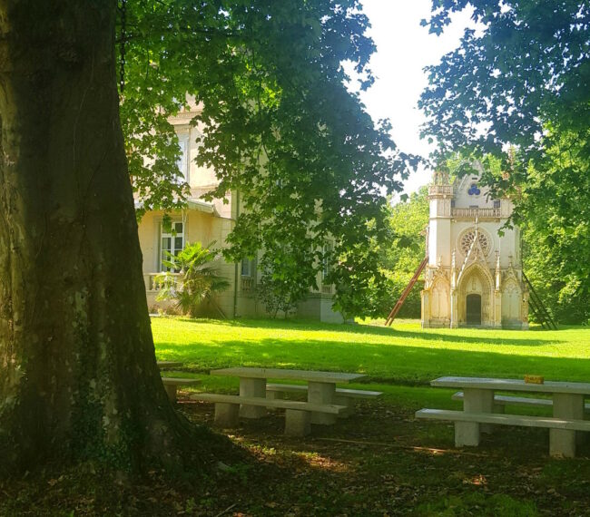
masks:
[[[207,248],[201,242],[187,244],[176,256],[167,251],[169,259],[162,260],[162,265],[169,271],[156,278],[162,285],[157,299],[174,300],[182,314],[194,317],[205,299],[212,301],[211,295],[229,288],[230,282],[218,274],[218,268],[210,265],[220,257],[211,249],[214,244],[211,242]],[[180,278],[172,271],[180,273]]]

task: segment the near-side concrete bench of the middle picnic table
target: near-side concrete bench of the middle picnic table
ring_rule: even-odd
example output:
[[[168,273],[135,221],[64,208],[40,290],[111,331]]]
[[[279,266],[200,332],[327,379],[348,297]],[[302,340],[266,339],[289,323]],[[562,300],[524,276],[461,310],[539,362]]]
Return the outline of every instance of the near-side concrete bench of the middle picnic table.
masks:
[[[285,434],[305,436],[311,431],[311,412],[339,415],[346,410],[344,405],[313,404],[293,400],[272,400],[260,396],[218,395],[199,393],[192,400],[215,403],[215,424],[221,427],[236,427],[239,423],[240,405],[277,407],[285,410]]]

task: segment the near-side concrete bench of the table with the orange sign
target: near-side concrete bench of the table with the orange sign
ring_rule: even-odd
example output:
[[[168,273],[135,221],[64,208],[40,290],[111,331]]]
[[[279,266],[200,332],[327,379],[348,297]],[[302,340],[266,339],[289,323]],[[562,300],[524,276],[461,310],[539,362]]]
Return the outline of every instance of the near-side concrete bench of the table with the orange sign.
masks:
[[[479,424],[517,425],[523,427],[546,427],[550,429],[549,454],[552,456],[575,456],[576,431],[590,432],[590,421],[568,420],[546,416],[498,415],[493,413],[466,413],[447,409],[420,409],[416,418],[445,420],[455,423],[455,445],[477,446]]]

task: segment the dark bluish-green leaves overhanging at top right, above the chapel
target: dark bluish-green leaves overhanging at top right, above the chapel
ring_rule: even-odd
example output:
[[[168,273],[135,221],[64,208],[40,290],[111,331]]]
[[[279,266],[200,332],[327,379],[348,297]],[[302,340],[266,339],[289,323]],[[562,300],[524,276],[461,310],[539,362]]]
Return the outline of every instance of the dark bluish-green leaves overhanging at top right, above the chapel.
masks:
[[[467,5],[477,30],[468,29],[460,46],[428,69],[420,102],[427,132],[447,150],[467,142],[498,154],[512,143],[526,160],[543,157],[539,136],[548,121],[585,132],[590,7],[575,0],[435,0],[423,24],[440,34],[449,15]]]

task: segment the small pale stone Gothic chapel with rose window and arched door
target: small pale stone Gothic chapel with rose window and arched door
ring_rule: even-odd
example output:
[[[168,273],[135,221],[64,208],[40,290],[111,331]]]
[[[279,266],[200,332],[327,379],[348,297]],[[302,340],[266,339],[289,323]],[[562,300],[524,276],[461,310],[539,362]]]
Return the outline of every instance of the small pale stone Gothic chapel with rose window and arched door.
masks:
[[[424,328],[528,328],[520,229],[504,227],[513,204],[479,180],[480,172],[451,183],[437,171],[428,187]]]

